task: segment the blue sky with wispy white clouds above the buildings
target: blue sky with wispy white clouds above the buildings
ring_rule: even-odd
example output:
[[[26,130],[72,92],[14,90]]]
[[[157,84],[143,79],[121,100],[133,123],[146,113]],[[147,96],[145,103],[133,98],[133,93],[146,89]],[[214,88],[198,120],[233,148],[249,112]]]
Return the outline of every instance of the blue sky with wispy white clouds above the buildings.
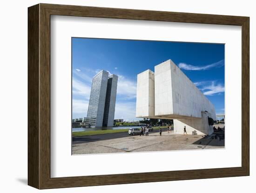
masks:
[[[86,117],[92,78],[101,70],[118,75],[115,119],[135,118],[137,74],[171,59],[224,113],[224,45],[163,41],[72,38],[73,118]]]

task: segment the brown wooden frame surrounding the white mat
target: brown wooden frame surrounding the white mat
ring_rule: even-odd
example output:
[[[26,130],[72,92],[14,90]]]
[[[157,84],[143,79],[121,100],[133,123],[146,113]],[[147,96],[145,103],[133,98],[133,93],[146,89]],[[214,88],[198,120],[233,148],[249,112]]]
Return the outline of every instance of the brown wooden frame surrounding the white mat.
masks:
[[[51,178],[50,16],[138,19],[242,26],[242,167]],[[249,17],[38,4],[28,8],[28,185],[38,188],[249,175]]]

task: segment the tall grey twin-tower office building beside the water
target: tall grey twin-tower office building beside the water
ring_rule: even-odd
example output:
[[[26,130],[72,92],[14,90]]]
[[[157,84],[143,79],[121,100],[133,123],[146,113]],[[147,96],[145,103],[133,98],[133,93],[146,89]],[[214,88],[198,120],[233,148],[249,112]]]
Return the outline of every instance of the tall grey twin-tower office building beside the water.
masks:
[[[113,127],[117,80],[103,70],[93,77],[86,126]]]

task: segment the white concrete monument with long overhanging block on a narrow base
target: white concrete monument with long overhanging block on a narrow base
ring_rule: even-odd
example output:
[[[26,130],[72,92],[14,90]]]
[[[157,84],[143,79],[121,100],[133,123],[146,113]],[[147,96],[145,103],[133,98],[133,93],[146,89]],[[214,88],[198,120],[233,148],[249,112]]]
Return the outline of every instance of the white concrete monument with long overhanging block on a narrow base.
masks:
[[[136,117],[174,119],[174,133],[210,135],[208,117],[216,120],[214,105],[176,66],[167,60],[137,75]]]

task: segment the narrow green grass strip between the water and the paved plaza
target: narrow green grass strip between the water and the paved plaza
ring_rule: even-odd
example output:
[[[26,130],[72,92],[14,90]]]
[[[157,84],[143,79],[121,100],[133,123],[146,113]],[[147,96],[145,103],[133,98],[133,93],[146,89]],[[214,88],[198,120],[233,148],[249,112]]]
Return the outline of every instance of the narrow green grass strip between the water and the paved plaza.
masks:
[[[173,127],[173,126],[171,126]],[[140,128],[140,127],[138,127]],[[167,128],[167,126],[162,126],[161,128]],[[158,127],[153,127],[154,130],[159,129]],[[113,129],[113,130],[96,130],[96,131],[79,131],[73,132],[72,136],[87,136],[87,135],[99,135],[99,134],[109,134],[109,133],[120,133],[128,132],[129,129]]]

